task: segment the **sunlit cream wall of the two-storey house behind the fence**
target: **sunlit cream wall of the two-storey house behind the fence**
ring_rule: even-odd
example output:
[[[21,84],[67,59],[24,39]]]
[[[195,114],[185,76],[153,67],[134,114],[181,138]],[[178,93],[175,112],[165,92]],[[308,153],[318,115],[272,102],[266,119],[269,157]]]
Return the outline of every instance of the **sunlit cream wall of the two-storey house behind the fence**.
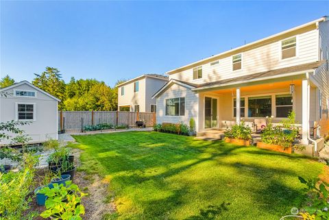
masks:
[[[134,82],[139,82],[139,90],[134,93]],[[121,87],[118,87],[118,106],[130,106],[130,111],[134,111],[134,105],[139,105],[139,111],[145,112],[145,78],[136,80],[130,84],[125,84],[125,95],[121,95]]]

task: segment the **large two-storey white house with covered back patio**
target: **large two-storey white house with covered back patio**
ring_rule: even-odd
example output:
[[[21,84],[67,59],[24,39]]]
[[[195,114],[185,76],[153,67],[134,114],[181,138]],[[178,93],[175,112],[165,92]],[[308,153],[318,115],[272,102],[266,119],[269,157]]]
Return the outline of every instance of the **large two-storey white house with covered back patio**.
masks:
[[[167,72],[153,96],[157,122],[188,124],[197,132],[295,110],[302,143],[329,132],[329,17],[230,49]],[[317,126],[317,124],[319,126]]]

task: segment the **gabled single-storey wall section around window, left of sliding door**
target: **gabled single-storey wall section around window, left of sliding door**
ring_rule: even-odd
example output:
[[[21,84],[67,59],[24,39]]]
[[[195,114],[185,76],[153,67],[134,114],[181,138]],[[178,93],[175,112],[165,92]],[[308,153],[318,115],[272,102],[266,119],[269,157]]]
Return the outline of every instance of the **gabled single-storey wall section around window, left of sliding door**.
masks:
[[[166,99],[185,97],[185,115],[184,116],[167,116],[166,115]],[[195,129],[198,131],[198,95],[189,88],[173,84],[164,93],[156,99],[157,123],[179,123],[183,122],[189,125],[191,118],[195,119]]]

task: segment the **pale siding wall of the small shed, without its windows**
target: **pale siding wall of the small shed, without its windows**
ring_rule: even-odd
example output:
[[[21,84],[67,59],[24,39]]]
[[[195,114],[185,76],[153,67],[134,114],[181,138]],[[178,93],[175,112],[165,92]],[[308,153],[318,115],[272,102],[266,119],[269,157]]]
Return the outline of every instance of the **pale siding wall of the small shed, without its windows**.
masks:
[[[10,95],[0,97],[0,121],[16,120],[16,103],[35,103],[35,121],[21,126],[21,129],[32,138],[31,143],[44,142],[47,137],[58,139],[58,101],[39,91],[36,91],[37,97],[14,97],[14,89],[36,91],[27,84],[5,90],[4,92],[10,93]],[[9,141],[3,140],[0,144],[5,143],[9,143]]]

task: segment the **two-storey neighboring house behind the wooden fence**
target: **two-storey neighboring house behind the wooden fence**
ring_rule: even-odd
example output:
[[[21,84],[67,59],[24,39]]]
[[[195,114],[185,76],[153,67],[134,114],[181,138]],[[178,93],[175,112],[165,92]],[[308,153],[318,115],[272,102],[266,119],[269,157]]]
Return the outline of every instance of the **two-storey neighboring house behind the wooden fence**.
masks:
[[[163,75],[145,74],[117,85],[119,111],[156,112],[151,97],[167,82]]]

